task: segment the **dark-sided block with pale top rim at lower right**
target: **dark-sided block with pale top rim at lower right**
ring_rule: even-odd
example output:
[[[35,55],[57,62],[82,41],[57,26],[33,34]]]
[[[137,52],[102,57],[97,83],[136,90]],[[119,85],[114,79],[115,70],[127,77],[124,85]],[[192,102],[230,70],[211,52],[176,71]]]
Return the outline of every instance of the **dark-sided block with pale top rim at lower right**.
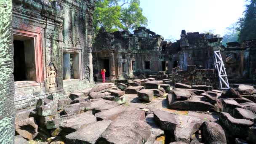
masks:
[[[249,127],[253,125],[253,122],[245,119],[235,119],[227,112],[221,112],[219,121],[228,130],[231,136],[240,138],[247,137]],[[241,133],[243,131],[243,133]]]

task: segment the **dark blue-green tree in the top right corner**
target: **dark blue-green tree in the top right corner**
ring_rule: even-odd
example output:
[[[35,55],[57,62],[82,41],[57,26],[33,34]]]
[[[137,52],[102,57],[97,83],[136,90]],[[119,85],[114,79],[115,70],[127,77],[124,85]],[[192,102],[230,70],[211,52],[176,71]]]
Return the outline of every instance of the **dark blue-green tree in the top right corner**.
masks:
[[[256,0],[246,0],[250,4],[246,5],[245,16],[239,19],[239,41],[256,39]]]

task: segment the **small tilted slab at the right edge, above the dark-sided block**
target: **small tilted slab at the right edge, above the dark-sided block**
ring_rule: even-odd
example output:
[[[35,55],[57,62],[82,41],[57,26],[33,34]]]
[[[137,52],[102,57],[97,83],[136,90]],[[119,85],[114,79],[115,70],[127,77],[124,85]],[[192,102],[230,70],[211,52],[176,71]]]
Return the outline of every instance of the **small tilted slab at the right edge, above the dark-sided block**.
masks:
[[[246,119],[254,121],[256,119],[256,115],[251,111],[247,109],[241,109],[241,108],[235,108],[233,117],[239,118],[239,119]]]

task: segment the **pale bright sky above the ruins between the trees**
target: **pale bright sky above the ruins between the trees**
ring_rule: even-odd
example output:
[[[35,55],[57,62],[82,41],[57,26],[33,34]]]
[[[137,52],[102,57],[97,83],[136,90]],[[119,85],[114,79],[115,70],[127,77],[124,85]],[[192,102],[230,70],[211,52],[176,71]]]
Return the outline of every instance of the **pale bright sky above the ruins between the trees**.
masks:
[[[150,30],[165,39],[180,39],[181,30],[203,32],[225,28],[243,16],[245,0],[140,0]]]

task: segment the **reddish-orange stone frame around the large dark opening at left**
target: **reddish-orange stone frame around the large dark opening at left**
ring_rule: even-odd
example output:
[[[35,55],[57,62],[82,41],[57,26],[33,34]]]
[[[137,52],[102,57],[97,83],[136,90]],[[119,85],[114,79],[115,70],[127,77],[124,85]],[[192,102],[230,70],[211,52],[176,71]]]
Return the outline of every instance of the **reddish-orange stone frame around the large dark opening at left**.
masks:
[[[44,83],[43,79],[43,51],[41,34],[37,32],[31,32],[27,30],[13,28],[13,35],[20,35],[25,37],[32,37],[34,39],[35,48],[35,67],[36,67],[36,82]]]

